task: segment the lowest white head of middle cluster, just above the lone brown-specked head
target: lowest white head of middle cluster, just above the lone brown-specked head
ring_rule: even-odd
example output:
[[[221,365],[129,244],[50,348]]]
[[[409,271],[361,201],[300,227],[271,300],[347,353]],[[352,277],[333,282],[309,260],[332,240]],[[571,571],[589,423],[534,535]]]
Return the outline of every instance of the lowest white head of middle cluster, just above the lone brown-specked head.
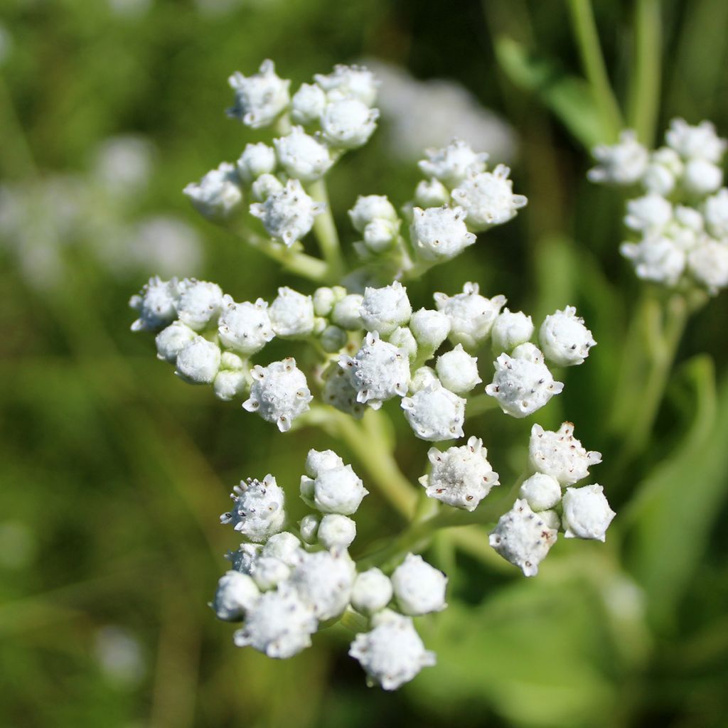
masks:
[[[438,443],[462,438],[465,400],[443,387],[439,381],[403,397],[402,408],[415,435],[420,440]]]

